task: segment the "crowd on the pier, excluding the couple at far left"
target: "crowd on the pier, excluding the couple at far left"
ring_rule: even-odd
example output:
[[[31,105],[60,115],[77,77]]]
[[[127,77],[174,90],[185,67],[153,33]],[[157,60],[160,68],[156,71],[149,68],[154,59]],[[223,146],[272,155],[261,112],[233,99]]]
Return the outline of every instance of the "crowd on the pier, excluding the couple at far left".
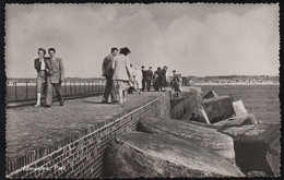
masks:
[[[111,103],[126,104],[126,92],[132,94],[137,91],[139,94],[145,88],[150,92],[153,84],[154,91],[165,91],[167,86],[167,67],[161,69],[159,67],[155,72],[152,71],[152,67],[149,70],[144,70],[144,65],[134,67],[130,63],[129,56],[130,50],[128,47],[110,49],[102,65],[103,76],[106,77],[106,88],[102,103],[108,103],[108,97],[111,97]],[[180,97],[182,79],[180,74],[173,71],[174,76],[171,86],[176,92],[176,96]]]

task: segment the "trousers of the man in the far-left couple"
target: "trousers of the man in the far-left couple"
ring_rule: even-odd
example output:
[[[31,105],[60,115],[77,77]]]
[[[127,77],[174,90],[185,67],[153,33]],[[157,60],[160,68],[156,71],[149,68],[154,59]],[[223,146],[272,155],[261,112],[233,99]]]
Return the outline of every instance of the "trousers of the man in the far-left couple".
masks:
[[[57,99],[60,101],[60,104],[63,103],[63,96],[62,96],[62,88],[61,83],[51,83],[50,81],[47,82],[47,91],[46,91],[46,105],[51,106],[52,105],[52,86],[56,89]]]

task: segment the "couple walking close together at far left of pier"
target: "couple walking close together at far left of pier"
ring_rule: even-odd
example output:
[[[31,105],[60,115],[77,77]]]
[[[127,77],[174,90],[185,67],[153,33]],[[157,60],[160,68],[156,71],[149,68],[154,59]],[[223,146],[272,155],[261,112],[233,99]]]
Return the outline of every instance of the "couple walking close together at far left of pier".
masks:
[[[42,95],[45,94],[45,107],[51,107],[52,105],[52,87],[55,87],[57,98],[60,106],[63,106],[63,96],[61,91],[61,83],[64,80],[64,67],[61,58],[56,58],[56,49],[49,48],[48,55],[46,56],[46,50],[39,48],[37,50],[38,58],[34,60],[34,67],[37,71],[36,77],[36,97],[37,101],[34,106],[35,108],[40,107]]]

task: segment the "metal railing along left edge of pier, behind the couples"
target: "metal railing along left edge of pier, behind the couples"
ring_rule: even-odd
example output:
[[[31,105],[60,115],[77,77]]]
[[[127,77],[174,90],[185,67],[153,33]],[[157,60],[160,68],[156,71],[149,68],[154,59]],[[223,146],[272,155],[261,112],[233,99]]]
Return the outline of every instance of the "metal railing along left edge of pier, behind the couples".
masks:
[[[67,80],[61,84],[62,94],[67,97],[97,94],[105,91],[105,79]],[[55,94],[55,89],[52,88]],[[7,82],[7,101],[29,101],[36,99],[36,80]]]

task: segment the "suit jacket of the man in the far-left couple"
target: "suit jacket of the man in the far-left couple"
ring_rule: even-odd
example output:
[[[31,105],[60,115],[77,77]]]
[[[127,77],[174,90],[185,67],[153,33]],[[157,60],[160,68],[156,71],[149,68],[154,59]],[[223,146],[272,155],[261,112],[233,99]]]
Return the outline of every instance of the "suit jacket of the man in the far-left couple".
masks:
[[[55,58],[55,60],[50,60],[51,62],[51,74],[50,74],[50,82],[51,83],[60,83],[64,80],[64,67],[63,62],[60,58]]]

